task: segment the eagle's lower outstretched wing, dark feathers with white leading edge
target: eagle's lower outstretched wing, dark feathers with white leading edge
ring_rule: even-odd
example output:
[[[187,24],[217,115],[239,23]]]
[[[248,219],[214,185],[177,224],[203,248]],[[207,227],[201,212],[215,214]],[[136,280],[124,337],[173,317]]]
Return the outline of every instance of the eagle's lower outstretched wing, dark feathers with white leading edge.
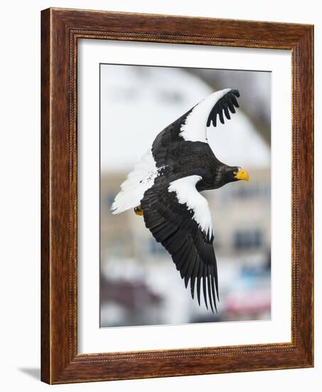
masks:
[[[197,283],[198,303],[203,284],[205,306],[216,308],[218,273],[213,248],[213,224],[205,197],[195,185],[201,180],[191,175],[170,183],[159,182],[144,193],[141,200],[144,222],[156,241],[171,254],[186,287],[190,280],[194,297]]]

